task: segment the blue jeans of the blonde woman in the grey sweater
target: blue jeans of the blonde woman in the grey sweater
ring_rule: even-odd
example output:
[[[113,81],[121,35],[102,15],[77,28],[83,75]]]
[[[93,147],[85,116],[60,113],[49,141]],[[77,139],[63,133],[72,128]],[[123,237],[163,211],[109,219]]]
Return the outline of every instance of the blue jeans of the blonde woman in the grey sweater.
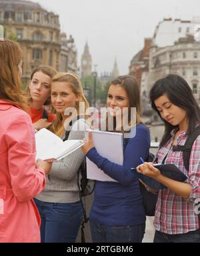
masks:
[[[46,203],[34,200],[41,216],[41,242],[75,243],[83,219],[81,201]]]

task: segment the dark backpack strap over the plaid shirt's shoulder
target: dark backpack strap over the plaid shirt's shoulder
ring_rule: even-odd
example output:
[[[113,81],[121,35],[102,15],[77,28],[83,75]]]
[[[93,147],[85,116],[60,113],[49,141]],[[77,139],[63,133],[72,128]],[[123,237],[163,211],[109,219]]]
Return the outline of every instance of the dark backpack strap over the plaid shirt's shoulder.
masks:
[[[191,149],[193,147],[193,143],[197,139],[197,137],[200,135],[200,127],[195,127],[193,133],[189,134],[185,144],[183,146],[181,145],[174,145],[173,151],[183,151],[183,164],[185,166],[185,169],[189,171],[189,159],[191,155]]]

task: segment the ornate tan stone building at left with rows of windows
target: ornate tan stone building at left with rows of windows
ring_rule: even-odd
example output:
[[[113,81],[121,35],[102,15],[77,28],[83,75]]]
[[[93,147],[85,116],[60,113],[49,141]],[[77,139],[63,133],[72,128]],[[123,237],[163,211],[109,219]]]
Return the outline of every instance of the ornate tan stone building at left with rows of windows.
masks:
[[[64,65],[65,71],[68,70],[70,51],[73,52],[74,47],[67,50],[64,63],[62,55],[66,55],[66,45],[61,41],[58,15],[46,11],[39,3],[0,0],[0,24],[5,29],[5,38],[17,40],[21,45],[23,81],[27,81],[39,65],[50,65],[57,70],[64,69]],[[75,67],[72,69],[76,71]]]

